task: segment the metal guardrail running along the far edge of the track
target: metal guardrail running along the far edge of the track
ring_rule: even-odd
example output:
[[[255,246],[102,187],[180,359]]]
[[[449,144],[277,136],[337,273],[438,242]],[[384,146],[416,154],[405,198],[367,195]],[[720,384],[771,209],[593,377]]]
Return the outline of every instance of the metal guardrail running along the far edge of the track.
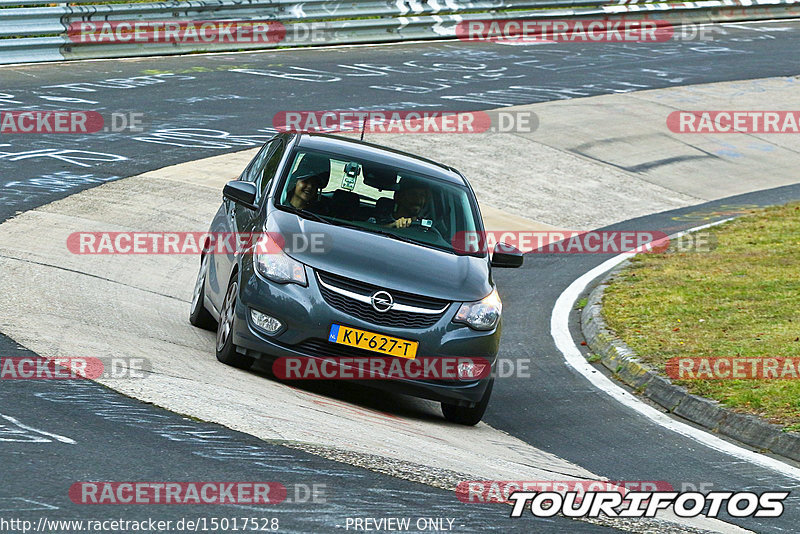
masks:
[[[794,17],[800,17],[800,0],[0,0],[0,64],[452,39],[459,23],[489,19],[645,19],[679,25]],[[192,28],[203,24],[205,33],[194,39],[167,31],[181,36],[188,31],[191,37]]]

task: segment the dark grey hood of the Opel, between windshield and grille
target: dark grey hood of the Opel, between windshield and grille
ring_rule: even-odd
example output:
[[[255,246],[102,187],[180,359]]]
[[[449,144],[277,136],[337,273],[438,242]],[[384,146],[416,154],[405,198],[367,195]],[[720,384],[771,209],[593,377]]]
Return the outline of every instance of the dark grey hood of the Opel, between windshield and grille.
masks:
[[[287,254],[322,271],[396,291],[443,300],[480,300],[492,291],[486,258],[459,256],[380,234],[311,221],[273,210],[268,232],[287,242]],[[291,236],[324,234],[324,252],[291,247]]]

